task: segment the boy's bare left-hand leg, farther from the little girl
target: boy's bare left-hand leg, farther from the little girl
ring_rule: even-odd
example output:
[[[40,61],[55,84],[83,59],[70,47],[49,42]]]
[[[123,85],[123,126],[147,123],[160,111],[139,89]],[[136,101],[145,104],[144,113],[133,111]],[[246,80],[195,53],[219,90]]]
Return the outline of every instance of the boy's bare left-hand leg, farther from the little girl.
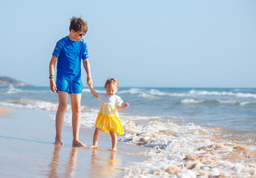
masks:
[[[68,93],[59,91],[59,106],[56,113],[55,126],[56,126],[56,137],[55,137],[55,145],[63,145],[62,143],[62,125],[64,114],[68,105]]]

